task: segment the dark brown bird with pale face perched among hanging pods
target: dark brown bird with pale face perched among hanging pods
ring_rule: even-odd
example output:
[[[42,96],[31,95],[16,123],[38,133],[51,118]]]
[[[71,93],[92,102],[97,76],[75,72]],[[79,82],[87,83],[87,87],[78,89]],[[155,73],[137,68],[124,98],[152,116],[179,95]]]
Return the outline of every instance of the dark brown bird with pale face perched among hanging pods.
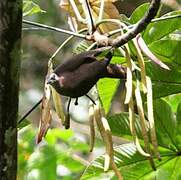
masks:
[[[126,68],[119,64],[110,64],[113,50],[110,50],[103,59],[98,60],[96,56],[100,53],[102,52],[99,50],[92,50],[73,55],[58,65],[47,78],[47,84],[60,95],[70,97],[67,106],[68,119],[71,98],[76,98],[75,105],[77,105],[78,98],[85,95],[95,104],[87,93],[100,78],[125,79]]]

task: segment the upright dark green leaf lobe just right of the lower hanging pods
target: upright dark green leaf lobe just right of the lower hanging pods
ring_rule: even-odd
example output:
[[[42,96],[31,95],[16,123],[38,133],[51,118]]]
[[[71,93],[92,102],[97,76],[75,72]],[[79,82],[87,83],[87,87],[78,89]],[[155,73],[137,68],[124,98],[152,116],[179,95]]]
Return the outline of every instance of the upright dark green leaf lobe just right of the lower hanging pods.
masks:
[[[170,105],[158,99],[154,101],[154,118],[158,144],[169,149],[178,149],[176,143],[176,120]]]

